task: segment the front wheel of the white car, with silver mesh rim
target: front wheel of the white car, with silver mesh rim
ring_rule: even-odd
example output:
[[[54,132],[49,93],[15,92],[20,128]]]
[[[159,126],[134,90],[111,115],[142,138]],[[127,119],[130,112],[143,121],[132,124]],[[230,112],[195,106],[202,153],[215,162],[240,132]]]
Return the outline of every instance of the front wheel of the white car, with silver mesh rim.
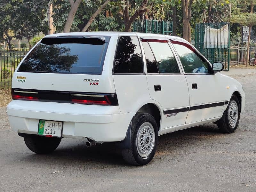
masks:
[[[240,112],[239,100],[236,95],[232,95],[223,116],[216,122],[219,131],[223,133],[232,133],[236,131],[240,120]]]

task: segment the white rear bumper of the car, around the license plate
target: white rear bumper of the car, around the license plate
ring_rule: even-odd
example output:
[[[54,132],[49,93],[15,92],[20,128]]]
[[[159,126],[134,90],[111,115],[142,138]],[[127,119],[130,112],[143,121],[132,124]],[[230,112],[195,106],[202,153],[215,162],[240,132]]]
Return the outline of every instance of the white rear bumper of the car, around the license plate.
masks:
[[[63,121],[62,137],[96,141],[124,140],[133,113],[118,106],[12,100],[7,115],[15,132],[37,134],[39,119]]]

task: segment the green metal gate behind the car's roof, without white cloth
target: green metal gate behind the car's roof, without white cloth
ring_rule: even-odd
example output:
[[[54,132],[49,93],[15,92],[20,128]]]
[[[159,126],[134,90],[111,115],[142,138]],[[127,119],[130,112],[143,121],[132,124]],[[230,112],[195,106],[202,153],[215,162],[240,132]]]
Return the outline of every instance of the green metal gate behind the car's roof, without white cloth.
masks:
[[[134,20],[133,32],[172,35],[172,21]]]

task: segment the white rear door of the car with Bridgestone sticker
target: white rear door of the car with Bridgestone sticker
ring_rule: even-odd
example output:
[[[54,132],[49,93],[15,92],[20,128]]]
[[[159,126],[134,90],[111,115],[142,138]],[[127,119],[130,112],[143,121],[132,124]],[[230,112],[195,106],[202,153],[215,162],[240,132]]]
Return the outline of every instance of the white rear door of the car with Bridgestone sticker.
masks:
[[[168,39],[142,38],[141,42],[150,97],[163,108],[162,128],[185,124],[189,107],[188,85]]]

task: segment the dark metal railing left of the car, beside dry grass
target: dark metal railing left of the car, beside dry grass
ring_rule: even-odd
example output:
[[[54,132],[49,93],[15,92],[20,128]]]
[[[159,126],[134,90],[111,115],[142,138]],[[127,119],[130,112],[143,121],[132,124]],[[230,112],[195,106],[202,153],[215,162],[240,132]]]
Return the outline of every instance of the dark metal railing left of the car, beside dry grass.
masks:
[[[0,89],[8,90],[12,87],[12,75],[20,61],[28,53],[26,50],[0,50]]]

